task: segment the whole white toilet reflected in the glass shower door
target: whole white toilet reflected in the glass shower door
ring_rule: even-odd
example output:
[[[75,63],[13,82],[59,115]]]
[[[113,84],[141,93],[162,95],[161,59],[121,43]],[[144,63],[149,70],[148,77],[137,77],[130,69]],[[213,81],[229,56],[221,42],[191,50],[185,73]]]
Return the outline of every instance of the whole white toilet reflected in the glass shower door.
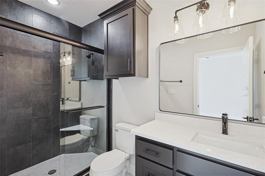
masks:
[[[93,130],[80,130],[80,133],[61,138],[60,145],[61,147],[64,147],[66,153],[86,152],[91,141],[94,140],[94,136],[98,133],[98,117],[87,114],[82,115],[79,116],[79,122],[80,125],[89,126],[93,128]]]

